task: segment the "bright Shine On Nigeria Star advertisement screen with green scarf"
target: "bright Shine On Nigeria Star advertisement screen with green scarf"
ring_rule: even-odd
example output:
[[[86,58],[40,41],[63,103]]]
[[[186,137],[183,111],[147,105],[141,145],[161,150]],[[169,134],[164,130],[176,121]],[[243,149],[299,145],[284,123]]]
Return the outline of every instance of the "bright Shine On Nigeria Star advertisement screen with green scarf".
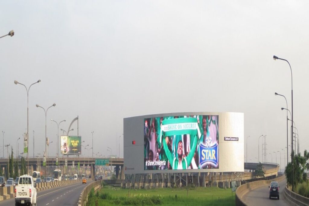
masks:
[[[144,169],[219,169],[219,116],[144,118]]]

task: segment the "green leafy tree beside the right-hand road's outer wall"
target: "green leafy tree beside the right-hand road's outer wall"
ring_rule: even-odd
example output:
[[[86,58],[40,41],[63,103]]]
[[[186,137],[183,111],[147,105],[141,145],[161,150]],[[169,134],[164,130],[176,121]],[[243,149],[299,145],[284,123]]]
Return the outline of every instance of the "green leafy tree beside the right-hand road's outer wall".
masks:
[[[289,186],[292,185],[292,183],[294,184],[294,186],[297,186],[298,183],[303,183],[303,182],[307,182],[307,174],[305,173],[305,170],[309,169],[309,162],[307,162],[309,160],[309,153],[307,152],[307,150],[304,151],[304,156],[301,156],[300,153],[298,153],[297,155],[293,155],[293,153],[291,154],[291,157],[293,157],[293,162],[294,162],[294,179],[292,179],[292,162],[290,162],[287,166],[286,166],[286,170],[284,171],[284,173],[286,174],[286,182]],[[297,187],[293,188],[294,190],[296,189],[297,192]]]

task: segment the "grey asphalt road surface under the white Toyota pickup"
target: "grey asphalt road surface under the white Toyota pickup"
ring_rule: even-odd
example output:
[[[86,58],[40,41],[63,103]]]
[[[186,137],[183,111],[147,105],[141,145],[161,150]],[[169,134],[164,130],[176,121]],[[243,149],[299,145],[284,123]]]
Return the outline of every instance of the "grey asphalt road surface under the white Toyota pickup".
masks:
[[[77,183],[39,191],[37,196],[37,205],[76,206],[78,204],[80,193],[89,183],[91,183],[91,181],[87,179],[87,184]],[[15,205],[15,200],[14,198],[11,198],[9,200],[0,201],[0,206],[2,205]]]

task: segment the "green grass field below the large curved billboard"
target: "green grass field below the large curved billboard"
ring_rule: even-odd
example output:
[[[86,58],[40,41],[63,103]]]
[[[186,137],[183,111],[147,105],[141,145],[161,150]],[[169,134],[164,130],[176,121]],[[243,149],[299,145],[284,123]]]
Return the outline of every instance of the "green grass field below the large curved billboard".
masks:
[[[88,205],[235,205],[235,192],[218,187],[192,189],[122,189],[105,186],[89,199]]]

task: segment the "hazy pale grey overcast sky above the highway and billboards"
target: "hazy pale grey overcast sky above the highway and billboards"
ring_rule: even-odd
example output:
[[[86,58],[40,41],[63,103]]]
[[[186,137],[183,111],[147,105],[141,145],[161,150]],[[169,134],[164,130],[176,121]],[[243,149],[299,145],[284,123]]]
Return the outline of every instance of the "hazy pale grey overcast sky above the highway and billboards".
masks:
[[[35,155],[45,149],[45,113],[36,104],[46,109],[56,103],[47,112],[49,156],[57,140],[50,119],[66,119],[62,134],[60,128],[79,116],[82,141],[91,145],[94,131],[93,151],[105,156],[107,147],[118,156],[121,136],[123,157],[125,117],[233,111],[244,113],[248,161],[257,161],[263,134],[267,153],[281,151],[284,164],[286,101],[274,93],[285,95],[291,110],[291,71],[273,55],[292,67],[293,118],[303,153],[309,145],[308,8],[308,1],[279,0],[0,1],[0,36],[15,31],[0,39],[4,144],[15,153],[27,128],[27,92],[14,80],[28,87],[40,79],[29,91],[31,157],[33,130]],[[77,135],[76,122],[72,128],[70,135]]]

